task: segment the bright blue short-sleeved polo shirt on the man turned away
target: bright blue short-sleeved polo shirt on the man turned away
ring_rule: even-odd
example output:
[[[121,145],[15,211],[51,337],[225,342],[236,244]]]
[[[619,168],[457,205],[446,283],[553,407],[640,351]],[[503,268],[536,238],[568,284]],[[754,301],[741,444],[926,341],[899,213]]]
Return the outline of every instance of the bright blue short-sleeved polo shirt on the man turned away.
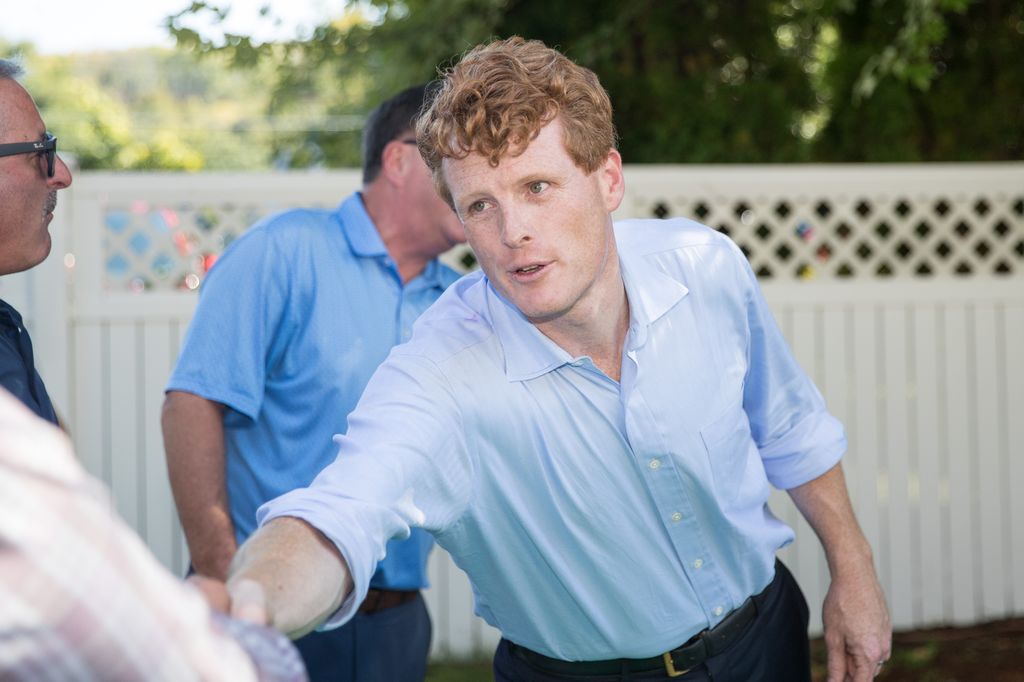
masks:
[[[225,404],[227,492],[240,542],[256,509],[308,485],[391,347],[458,274],[437,261],[402,285],[358,194],[334,211],[292,210],[224,252],[167,385]],[[388,545],[372,584],[426,587],[430,536]]]

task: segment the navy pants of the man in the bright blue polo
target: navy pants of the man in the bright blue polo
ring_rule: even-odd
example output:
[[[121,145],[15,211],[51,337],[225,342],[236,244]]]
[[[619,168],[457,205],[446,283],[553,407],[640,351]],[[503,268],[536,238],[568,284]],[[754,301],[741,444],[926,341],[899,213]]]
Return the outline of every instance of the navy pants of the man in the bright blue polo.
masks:
[[[310,682],[422,682],[430,651],[423,596],[295,640]]]

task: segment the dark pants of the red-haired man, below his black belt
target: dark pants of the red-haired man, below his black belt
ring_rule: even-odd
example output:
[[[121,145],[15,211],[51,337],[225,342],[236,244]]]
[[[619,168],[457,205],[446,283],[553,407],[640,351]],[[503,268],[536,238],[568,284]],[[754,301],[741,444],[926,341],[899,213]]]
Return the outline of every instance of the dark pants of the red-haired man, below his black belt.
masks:
[[[722,653],[682,677],[666,671],[627,673],[604,677],[553,675],[531,668],[512,653],[504,639],[495,653],[497,682],[567,682],[569,680],[643,680],[644,682],[810,682],[810,643],[807,623],[810,615],[804,594],[793,574],[780,561],[776,579],[765,606],[746,631]]]

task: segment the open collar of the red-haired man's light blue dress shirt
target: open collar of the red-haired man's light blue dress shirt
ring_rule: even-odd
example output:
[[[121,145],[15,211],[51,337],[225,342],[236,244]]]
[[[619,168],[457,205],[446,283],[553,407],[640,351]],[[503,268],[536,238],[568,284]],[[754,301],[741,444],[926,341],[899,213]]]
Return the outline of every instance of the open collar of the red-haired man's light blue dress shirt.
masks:
[[[630,301],[633,345],[647,340],[647,328],[681,301],[688,289],[640,258],[620,256],[620,269]],[[487,308],[505,355],[509,381],[527,381],[557,370],[575,358],[546,337],[487,283]]]

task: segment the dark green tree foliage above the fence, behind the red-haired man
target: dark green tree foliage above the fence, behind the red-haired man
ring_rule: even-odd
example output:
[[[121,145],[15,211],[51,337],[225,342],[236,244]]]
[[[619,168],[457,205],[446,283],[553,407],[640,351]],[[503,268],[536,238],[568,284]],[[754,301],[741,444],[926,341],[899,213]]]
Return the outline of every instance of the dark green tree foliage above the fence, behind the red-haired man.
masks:
[[[1024,154],[1022,4],[362,0],[309,36],[258,45],[183,28],[229,11],[195,2],[168,27],[197,53],[272,63],[270,111],[328,121],[357,121],[469,47],[521,35],[597,72],[630,162],[988,160]],[[356,128],[319,127],[274,143],[295,165],[354,163]]]

